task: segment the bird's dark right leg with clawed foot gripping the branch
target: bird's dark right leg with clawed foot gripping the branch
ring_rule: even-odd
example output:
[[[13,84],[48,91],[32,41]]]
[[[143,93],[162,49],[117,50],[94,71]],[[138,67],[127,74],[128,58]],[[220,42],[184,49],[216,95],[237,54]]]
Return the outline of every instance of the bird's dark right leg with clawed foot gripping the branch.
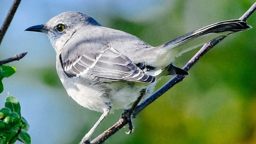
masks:
[[[128,120],[129,131],[125,132],[126,134],[130,134],[134,130],[134,126],[132,123],[133,112],[134,112],[135,108],[137,107],[139,101],[145,94],[145,92],[146,92],[146,88],[143,88],[142,90],[140,90],[140,92],[139,92],[140,95],[138,96],[137,100],[132,104],[132,106],[130,108],[124,109],[123,113],[121,114],[121,118],[127,118],[127,120]]]

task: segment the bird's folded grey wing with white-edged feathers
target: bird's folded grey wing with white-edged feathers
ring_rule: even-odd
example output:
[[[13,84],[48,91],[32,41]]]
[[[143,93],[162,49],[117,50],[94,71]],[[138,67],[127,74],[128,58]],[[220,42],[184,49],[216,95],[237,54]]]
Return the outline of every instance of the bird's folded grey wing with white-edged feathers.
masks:
[[[99,52],[82,52],[74,59],[67,58],[70,56],[63,58],[61,54],[60,62],[68,77],[91,74],[104,82],[127,80],[151,83],[155,81],[154,76],[144,73],[127,56],[109,44],[105,44]]]

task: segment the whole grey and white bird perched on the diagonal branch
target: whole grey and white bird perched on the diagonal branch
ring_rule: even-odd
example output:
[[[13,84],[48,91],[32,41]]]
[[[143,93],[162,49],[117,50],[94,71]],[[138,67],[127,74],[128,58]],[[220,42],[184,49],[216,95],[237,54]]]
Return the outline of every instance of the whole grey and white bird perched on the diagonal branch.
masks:
[[[89,15],[67,11],[25,31],[48,36],[56,52],[56,71],[67,94],[79,105],[102,112],[82,138],[87,142],[109,112],[136,106],[164,75],[188,74],[173,64],[177,55],[248,28],[251,26],[245,21],[226,20],[151,46],[132,34],[104,27]],[[129,131],[133,128],[130,118]]]

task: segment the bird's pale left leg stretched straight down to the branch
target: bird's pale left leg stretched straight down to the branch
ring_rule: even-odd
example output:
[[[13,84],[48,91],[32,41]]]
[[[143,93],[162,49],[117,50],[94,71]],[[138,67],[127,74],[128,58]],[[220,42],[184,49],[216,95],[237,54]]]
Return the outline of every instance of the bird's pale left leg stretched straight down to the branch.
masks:
[[[90,143],[89,138],[91,134],[95,131],[96,127],[98,124],[106,117],[106,115],[109,113],[110,109],[103,109],[103,113],[97,120],[97,122],[90,128],[90,130],[82,137],[82,141],[80,143],[85,144],[85,143]]]

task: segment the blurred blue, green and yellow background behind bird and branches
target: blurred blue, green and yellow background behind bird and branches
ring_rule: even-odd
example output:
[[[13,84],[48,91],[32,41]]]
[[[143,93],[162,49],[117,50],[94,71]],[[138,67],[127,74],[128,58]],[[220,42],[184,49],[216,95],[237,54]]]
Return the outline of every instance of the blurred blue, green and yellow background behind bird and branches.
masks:
[[[46,35],[24,31],[64,11],[80,11],[104,26],[134,34],[156,46],[202,26],[239,18],[254,0],[22,0],[0,45],[0,59],[28,52],[8,63],[17,72],[3,79],[30,124],[32,143],[78,143],[99,118],[62,87],[55,51]],[[2,23],[12,0],[0,0]],[[256,13],[247,20],[256,27]],[[256,29],[226,37],[190,70],[183,81],[134,119],[135,130],[120,129],[105,143],[256,143]],[[198,50],[175,59],[182,67]],[[159,88],[168,80],[157,84]],[[123,109],[109,114],[92,138],[114,124]],[[19,143],[19,142],[17,142]]]

